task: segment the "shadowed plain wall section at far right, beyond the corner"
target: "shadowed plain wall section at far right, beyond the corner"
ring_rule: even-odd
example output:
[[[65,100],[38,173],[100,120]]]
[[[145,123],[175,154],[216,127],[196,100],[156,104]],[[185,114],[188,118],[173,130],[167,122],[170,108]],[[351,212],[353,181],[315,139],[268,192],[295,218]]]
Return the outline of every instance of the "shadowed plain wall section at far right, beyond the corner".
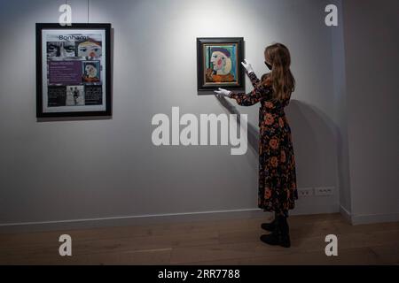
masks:
[[[399,221],[399,2],[343,1],[351,218]]]

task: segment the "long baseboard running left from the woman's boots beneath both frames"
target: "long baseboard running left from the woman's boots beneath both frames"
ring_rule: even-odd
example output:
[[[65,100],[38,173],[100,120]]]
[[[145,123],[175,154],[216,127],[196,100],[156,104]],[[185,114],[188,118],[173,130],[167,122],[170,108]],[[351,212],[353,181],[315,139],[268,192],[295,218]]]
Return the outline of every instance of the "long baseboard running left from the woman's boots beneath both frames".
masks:
[[[0,224],[0,233],[31,233],[57,230],[91,229],[107,226],[134,226],[160,223],[192,222],[201,220],[262,217],[268,216],[265,215],[263,210],[259,209],[164,213],[111,218],[84,218],[59,221],[5,223]]]

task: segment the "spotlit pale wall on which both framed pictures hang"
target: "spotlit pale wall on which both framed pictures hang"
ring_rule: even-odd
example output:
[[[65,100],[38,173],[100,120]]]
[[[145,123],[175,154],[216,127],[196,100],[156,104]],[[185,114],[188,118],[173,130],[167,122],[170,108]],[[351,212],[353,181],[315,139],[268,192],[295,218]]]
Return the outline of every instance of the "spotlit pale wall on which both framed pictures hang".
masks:
[[[35,23],[56,22],[64,2],[2,1],[0,224],[256,210],[258,106],[237,106],[254,132],[245,156],[151,142],[153,115],[170,115],[173,106],[196,115],[229,112],[214,96],[197,96],[195,41],[205,36],[245,37],[259,75],[264,47],[286,43],[298,81],[286,111],[298,185],[338,188],[334,83],[341,71],[332,64],[334,31],[324,25],[328,1],[91,0],[90,22],[114,29],[113,119],[38,123]],[[68,3],[74,22],[87,22],[87,2]],[[299,201],[294,213],[338,211],[338,203],[337,190]]]

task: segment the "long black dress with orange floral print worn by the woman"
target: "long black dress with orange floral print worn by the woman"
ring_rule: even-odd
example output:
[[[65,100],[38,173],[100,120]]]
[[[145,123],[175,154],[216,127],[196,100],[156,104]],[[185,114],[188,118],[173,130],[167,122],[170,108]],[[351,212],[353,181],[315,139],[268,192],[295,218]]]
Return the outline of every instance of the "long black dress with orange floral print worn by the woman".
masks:
[[[239,105],[260,102],[259,109],[259,193],[258,207],[288,217],[298,199],[295,157],[291,128],[286,119],[286,101],[273,99],[273,89],[260,85],[254,73],[249,73],[254,90],[249,94],[231,93]]]

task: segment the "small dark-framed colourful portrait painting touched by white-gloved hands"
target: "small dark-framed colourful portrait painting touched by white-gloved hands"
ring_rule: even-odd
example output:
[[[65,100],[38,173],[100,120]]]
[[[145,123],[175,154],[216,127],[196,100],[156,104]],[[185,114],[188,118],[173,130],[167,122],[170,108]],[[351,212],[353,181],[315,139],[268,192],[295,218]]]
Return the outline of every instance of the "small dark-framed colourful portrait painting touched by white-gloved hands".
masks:
[[[197,38],[198,90],[245,90],[244,38]]]

